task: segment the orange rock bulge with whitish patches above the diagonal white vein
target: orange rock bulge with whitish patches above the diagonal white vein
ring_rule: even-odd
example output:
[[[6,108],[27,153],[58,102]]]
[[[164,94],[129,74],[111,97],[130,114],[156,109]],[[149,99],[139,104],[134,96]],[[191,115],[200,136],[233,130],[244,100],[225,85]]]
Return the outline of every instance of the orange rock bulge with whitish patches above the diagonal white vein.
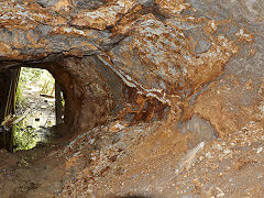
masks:
[[[156,20],[153,14],[138,21],[132,28],[133,36],[114,47],[111,57],[114,65],[134,76],[132,80],[144,85],[146,91],[153,88],[156,95],[165,91],[163,100],[168,103],[169,96],[186,98],[220,76],[224,64],[238,52],[232,41],[219,35],[211,37],[208,52],[196,55],[194,43],[176,26]]]

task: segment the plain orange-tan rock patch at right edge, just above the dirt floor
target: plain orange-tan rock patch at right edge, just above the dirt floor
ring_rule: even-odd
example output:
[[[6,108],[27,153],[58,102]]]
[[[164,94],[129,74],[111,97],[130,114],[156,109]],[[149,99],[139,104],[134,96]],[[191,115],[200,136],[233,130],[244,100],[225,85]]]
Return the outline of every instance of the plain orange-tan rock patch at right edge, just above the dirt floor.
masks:
[[[239,131],[250,121],[263,121],[261,87],[254,87],[252,79],[241,82],[230,76],[213,82],[198,96],[194,112],[208,120],[220,136]]]

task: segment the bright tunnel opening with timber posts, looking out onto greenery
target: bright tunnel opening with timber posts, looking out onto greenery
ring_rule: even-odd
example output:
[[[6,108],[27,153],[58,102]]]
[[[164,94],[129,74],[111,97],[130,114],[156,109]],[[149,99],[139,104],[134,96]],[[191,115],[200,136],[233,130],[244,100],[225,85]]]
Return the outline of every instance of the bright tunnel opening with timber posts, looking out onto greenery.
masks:
[[[1,109],[4,112],[1,119],[0,146],[15,152],[55,140],[55,125],[63,124],[65,102],[53,76],[46,69],[30,67],[4,73],[12,84],[10,86],[7,80],[3,84],[9,91],[7,96],[1,96]],[[4,98],[8,98],[6,103]]]

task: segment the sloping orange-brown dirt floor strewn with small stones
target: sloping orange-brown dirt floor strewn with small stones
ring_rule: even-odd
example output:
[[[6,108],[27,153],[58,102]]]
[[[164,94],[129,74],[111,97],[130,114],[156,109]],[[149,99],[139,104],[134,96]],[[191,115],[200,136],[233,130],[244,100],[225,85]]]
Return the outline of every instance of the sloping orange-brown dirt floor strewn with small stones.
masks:
[[[190,134],[163,122],[114,122],[21,151],[1,151],[1,197],[262,197],[264,130],[237,133],[188,150]],[[121,131],[119,131],[121,130]],[[189,138],[188,138],[189,136]]]

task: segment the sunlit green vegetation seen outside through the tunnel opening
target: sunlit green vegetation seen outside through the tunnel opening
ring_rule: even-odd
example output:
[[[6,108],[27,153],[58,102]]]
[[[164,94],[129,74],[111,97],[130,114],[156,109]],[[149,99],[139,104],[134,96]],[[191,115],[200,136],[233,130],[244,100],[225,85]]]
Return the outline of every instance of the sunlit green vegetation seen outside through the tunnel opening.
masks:
[[[16,111],[21,111],[22,113],[25,111],[26,92],[54,96],[54,88],[55,80],[47,70],[22,67],[16,89]],[[34,133],[36,129],[26,128],[29,120],[32,118],[34,118],[34,114],[29,114],[18,124],[13,125],[14,151],[33,148],[40,141],[40,136]]]

